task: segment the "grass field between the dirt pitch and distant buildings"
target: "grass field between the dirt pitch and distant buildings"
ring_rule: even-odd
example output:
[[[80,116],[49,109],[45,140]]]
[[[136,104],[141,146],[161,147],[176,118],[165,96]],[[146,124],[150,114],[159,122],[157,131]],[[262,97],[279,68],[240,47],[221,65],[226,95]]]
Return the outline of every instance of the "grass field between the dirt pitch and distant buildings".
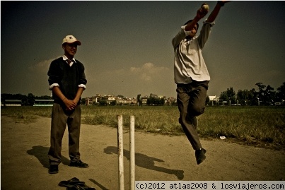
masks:
[[[5,107],[1,115],[17,122],[33,122],[37,116],[50,117],[52,107]],[[129,126],[135,117],[136,131],[184,135],[178,123],[178,107],[86,107],[82,106],[83,124],[117,126],[117,115]],[[226,136],[226,141],[250,146],[285,149],[285,107],[207,107],[198,117],[198,133],[202,138]]]

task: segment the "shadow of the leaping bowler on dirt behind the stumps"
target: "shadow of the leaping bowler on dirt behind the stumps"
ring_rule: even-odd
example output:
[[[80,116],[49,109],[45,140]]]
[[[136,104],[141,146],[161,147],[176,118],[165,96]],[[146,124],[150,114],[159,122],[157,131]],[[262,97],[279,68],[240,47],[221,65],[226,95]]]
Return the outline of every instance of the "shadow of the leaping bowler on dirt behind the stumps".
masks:
[[[117,154],[117,147],[115,146],[108,146],[104,149],[104,153],[106,154]],[[124,150],[124,157],[129,160],[129,150]],[[175,176],[182,180],[184,178],[184,171],[183,170],[171,170],[165,167],[159,167],[155,165],[155,162],[164,162],[161,159],[149,157],[147,155],[141,153],[135,153],[135,164],[139,167],[144,167],[149,170],[155,170],[157,172],[163,172],[166,174],[175,174]]]

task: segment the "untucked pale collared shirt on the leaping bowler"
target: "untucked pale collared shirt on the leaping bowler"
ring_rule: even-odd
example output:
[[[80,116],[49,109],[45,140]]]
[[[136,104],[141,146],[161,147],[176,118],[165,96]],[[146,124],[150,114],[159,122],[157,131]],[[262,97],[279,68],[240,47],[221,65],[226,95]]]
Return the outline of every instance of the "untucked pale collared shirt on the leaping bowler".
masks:
[[[207,23],[207,20],[204,21],[199,36],[194,36],[192,39],[186,38],[191,31],[185,31],[186,25],[183,25],[178,34],[173,37],[175,83],[188,84],[192,80],[210,81],[209,72],[202,56],[202,49],[214,24],[214,22]]]

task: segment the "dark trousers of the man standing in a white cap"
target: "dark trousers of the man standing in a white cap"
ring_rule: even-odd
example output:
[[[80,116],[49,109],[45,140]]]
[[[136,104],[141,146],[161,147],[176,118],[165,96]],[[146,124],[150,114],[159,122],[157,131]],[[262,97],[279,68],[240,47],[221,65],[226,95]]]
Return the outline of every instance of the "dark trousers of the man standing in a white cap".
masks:
[[[80,160],[79,136],[81,126],[81,106],[66,111],[61,105],[54,103],[52,107],[52,124],[50,132],[50,165],[59,165],[62,160],[62,138],[66,129],[69,131],[69,158],[71,162]]]

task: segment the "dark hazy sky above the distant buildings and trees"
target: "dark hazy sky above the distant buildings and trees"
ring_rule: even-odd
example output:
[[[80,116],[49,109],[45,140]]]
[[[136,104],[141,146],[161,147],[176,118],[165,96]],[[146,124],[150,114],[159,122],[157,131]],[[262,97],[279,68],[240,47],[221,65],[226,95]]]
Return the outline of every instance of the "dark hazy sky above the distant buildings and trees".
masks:
[[[64,54],[62,39],[74,35],[88,81],[82,97],[176,97],[171,40],[203,3],[209,13],[216,5],[1,1],[1,93],[50,95],[50,62]],[[285,82],[284,8],[284,1],[231,1],[221,8],[202,52],[211,76],[207,95],[257,90],[256,83],[277,90]]]

